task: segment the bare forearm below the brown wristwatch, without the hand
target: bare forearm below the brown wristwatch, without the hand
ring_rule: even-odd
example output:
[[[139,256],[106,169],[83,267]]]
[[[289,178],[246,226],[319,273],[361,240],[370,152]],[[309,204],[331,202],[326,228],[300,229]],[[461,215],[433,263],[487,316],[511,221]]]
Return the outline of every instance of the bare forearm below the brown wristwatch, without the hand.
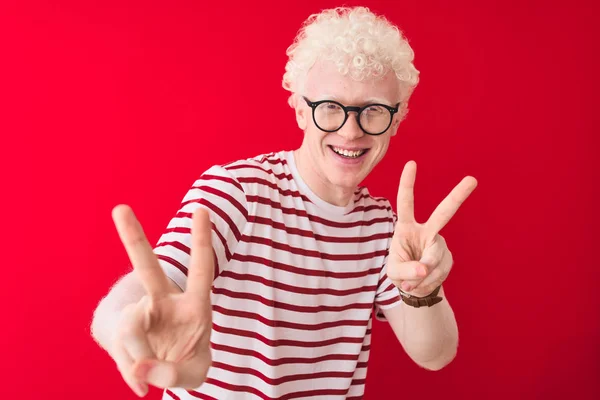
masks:
[[[382,310],[409,357],[433,371],[448,365],[458,348],[458,327],[443,287],[439,295],[443,300],[433,307],[415,308],[400,303]]]

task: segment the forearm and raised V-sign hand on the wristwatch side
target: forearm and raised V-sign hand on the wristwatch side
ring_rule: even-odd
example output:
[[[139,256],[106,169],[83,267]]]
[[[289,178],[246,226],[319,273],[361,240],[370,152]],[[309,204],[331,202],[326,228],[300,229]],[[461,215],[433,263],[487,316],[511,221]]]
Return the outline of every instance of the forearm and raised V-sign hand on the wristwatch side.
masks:
[[[397,289],[402,288],[409,295],[424,297],[441,287],[452,269],[453,257],[439,232],[477,186],[475,178],[463,178],[427,222],[420,224],[414,216],[416,168],[416,163],[409,161],[400,178],[397,221],[385,265],[391,283],[385,282],[383,293],[398,293]],[[379,298],[379,307],[407,354],[417,364],[431,370],[450,363],[458,348],[456,319],[443,287],[438,295],[443,298],[441,302],[419,308],[403,302],[393,307],[386,300],[387,295]]]

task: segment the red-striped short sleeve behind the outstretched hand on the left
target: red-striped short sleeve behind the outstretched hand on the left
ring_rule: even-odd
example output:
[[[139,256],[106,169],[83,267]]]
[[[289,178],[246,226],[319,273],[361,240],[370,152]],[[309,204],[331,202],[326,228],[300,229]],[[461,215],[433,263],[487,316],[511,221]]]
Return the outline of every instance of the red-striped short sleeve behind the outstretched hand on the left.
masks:
[[[165,274],[182,290],[190,263],[192,215],[198,207],[208,210],[212,223],[215,278],[235,252],[248,220],[244,189],[231,172],[214,166],[194,182],[154,248]]]

